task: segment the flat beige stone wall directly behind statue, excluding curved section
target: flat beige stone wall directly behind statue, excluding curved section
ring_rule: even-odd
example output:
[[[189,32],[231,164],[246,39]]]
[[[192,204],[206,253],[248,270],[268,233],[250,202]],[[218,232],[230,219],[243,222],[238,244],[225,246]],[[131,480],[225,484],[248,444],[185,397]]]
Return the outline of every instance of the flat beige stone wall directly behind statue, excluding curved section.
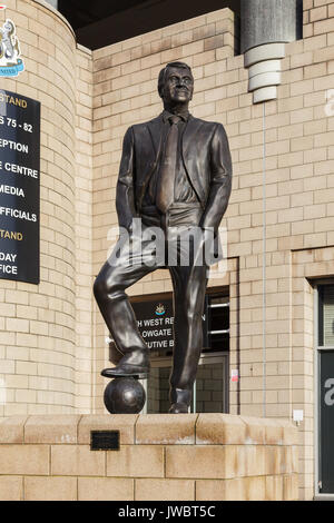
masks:
[[[304,39],[286,45],[278,99],[252,105],[242,56],[234,56],[234,24],[222,10],[94,52],[94,270],[106,259],[107,234],[116,226],[115,198],[121,139],[131,124],[159,114],[160,68],[184,60],[195,76],[191,112],[220,121],[229,138],[234,182],[223,220],[228,231],[228,275],[209,286],[229,285],[230,412],[291,417],[305,409],[301,443],[301,495],[313,495],[313,304],[312,288],[295,280],[294,251],[333,245],[333,118],[325,111],[333,88],[333,1],[304,2]],[[266,377],[263,371],[263,128],[266,127]],[[110,149],[108,149],[110,148]],[[107,210],[106,210],[107,209]],[[334,274],[331,263],[323,274]],[[296,304],[295,285],[303,288]],[[170,290],[164,272],[129,293]],[[301,295],[299,295],[301,297]],[[96,316],[97,367],[107,364],[106,330]],[[302,336],[303,333],[303,336]],[[304,344],[304,351],[302,345]],[[306,352],[306,347],[307,351]],[[97,388],[99,393],[101,388]],[[307,457],[306,457],[307,456]],[[306,483],[304,483],[306,482]],[[305,487],[305,490],[304,490]]]

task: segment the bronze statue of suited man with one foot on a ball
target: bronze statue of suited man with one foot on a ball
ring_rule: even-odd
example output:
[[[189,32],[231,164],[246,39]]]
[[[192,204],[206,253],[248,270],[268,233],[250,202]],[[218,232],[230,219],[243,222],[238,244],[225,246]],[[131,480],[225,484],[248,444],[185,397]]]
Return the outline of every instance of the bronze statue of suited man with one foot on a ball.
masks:
[[[157,268],[169,269],[175,314],[169,412],[186,413],[203,348],[208,263],[199,255],[207,233],[217,234],[227,208],[232,161],[224,127],[188,112],[194,78],[186,63],[168,63],[160,71],[158,91],[164,102],[161,115],[130,127],[124,138],[116,207],[131,249],[121,241],[116,246],[118,263],[108,260],[104,265],[94,292],[122,354],[118,365],[104,371],[104,376],[147,377],[149,352],[125,290]],[[158,260],[148,236],[136,233],[136,218],[141,220],[144,231],[150,227],[164,234],[163,247],[174,247],[174,263],[165,255],[163,262]],[[183,257],[183,235],[191,229],[200,230],[202,239],[188,241],[187,256]]]

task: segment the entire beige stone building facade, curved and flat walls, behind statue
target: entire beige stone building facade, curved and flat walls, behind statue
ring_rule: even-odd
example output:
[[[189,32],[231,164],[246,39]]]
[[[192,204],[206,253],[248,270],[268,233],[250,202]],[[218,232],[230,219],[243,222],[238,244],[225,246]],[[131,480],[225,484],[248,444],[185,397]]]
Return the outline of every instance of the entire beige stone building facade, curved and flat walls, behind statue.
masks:
[[[189,63],[194,116],[219,121],[233,157],[223,225],[229,296],[229,412],[299,425],[299,495],[316,477],[316,284],[334,277],[334,2],[304,0],[303,39],[285,45],[277,99],[254,105],[229,9],[96,51],[42,0],[7,0],[26,71],[1,89],[41,102],[41,282],[0,280],[0,416],[102,413],[108,344],[92,283],[117,226],[126,129],[157,116],[158,72]],[[331,101],[332,100],[332,101]],[[264,131],[265,129],[265,131]],[[263,169],[266,171],[265,354]],[[129,289],[170,293],[158,270]],[[264,364],[265,357],[265,364]],[[265,372],[265,376],[264,376]],[[264,395],[265,391],[265,395]]]

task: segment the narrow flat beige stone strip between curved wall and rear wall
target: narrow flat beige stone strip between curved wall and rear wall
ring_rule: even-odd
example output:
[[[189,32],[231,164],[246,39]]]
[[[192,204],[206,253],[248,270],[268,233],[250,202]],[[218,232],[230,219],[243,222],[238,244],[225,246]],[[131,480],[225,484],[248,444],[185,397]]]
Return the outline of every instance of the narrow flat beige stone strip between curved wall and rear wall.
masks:
[[[90,413],[92,362],[92,58],[78,46],[76,53],[76,411]]]

